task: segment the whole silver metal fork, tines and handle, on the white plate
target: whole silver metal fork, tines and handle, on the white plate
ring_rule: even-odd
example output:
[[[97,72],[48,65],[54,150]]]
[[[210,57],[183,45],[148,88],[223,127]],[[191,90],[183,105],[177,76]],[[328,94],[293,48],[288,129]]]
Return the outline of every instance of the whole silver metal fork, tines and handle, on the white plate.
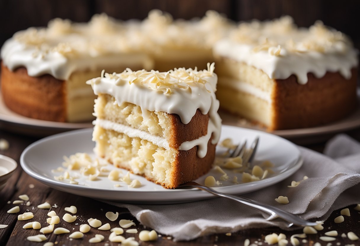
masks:
[[[251,163],[251,161],[253,160],[254,156],[255,156],[255,152],[257,149],[259,143],[259,138],[256,137],[255,141],[252,143],[251,148],[249,150],[246,150],[246,141],[244,142],[244,144],[242,145],[237,145],[236,148],[230,152],[230,154],[228,155],[228,157],[235,157],[235,156],[240,156],[243,158],[243,163]],[[203,190],[203,191],[207,191],[212,193],[213,195],[216,196],[220,196],[220,197],[224,197],[233,201],[237,201],[240,202],[244,205],[247,205],[251,208],[256,208],[259,209],[261,211],[264,211],[266,213],[269,213],[271,216],[269,218],[276,218],[276,217],[280,217],[282,219],[284,219],[285,221],[289,222],[289,227],[291,227],[293,224],[297,225],[297,226],[316,226],[317,223],[315,222],[309,222],[305,219],[302,219],[300,216],[283,211],[281,209],[275,208],[273,206],[264,204],[262,202],[258,202],[258,201],[254,201],[245,197],[240,197],[240,196],[233,196],[233,195],[228,195],[219,191],[216,191],[210,187],[204,186],[204,185],[200,185],[199,183],[190,181],[190,182],[186,182],[182,185],[179,185],[177,188],[197,188],[199,190]]]

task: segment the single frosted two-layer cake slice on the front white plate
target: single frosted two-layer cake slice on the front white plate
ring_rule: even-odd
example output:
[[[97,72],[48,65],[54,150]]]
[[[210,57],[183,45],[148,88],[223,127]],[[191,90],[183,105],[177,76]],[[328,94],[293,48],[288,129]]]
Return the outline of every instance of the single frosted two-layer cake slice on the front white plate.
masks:
[[[166,188],[208,172],[221,129],[213,69],[126,69],[88,81],[98,95],[95,153]]]

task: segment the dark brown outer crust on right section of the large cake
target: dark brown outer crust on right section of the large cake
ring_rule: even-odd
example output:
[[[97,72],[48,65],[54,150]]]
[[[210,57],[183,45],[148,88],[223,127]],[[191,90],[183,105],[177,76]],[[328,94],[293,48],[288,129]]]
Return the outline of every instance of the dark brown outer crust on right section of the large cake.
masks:
[[[357,104],[357,69],[351,74],[351,79],[345,79],[339,73],[327,72],[322,78],[309,73],[305,85],[299,85],[294,75],[276,79],[269,129],[314,127],[352,113]]]

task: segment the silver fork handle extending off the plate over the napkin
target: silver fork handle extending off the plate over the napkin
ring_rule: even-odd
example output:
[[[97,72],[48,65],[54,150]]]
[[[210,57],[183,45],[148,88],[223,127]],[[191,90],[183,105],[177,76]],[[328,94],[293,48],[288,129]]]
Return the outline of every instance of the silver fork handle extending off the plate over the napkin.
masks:
[[[240,203],[242,203],[244,205],[247,205],[249,207],[259,209],[261,211],[264,211],[264,212],[270,214],[271,216],[276,216],[277,215],[278,217],[284,219],[285,221],[293,223],[293,224],[295,224],[297,226],[316,226],[317,225],[317,223],[315,223],[315,222],[309,222],[309,221],[307,221],[305,219],[302,219],[298,215],[286,212],[284,210],[275,208],[274,206],[270,206],[270,205],[264,204],[262,202],[254,201],[254,200],[251,200],[251,199],[248,199],[248,198],[245,198],[245,197],[228,195],[228,194],[216,191],[216,190],[214,190],[214,189],[212,189],[210,187],[200,185],[198,183],[196,183],[196,185],[192,184],[190,186],[198,188],[199,190],[210,192],[213,195],[224,197],[224,198],[227,198],[227,199],[230,199],[230,200],[233,200],[233,201],[240,202]]]

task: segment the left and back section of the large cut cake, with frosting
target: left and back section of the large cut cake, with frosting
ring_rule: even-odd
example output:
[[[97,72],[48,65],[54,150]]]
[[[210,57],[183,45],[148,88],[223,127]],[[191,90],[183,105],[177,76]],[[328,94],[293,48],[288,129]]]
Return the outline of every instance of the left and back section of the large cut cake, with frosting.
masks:
[[[212,61],[212,45],[233,27],[209,11],[198,20],[172,20],[153,10],[143,21],[97,14],[89,23],[51,20],[14,34],[1,49],[1,91],[18,114],[59,122],[93,119],[94,94],[85,82],[102,69],[168,71]],[[206,68],[199,67],[199,69]]]

